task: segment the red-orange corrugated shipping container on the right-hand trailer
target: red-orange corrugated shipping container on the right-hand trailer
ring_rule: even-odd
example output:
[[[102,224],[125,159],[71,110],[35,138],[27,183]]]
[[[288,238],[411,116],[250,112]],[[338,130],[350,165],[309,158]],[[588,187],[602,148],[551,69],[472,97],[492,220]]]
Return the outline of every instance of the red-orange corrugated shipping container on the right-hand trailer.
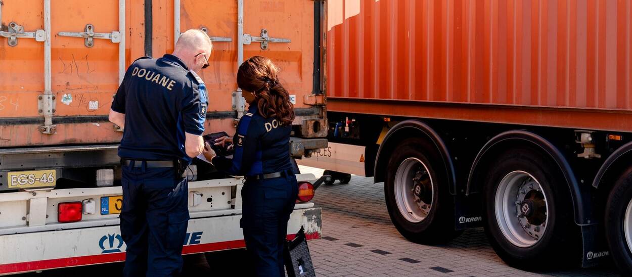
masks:
[[[630,1],[341,0],[327,8],[331,111],[632,131],[630,121],[609,122],[632,110]],[[349,106],[337,97],[413,102]],[[430,113],[415,101],[463,105]]]

